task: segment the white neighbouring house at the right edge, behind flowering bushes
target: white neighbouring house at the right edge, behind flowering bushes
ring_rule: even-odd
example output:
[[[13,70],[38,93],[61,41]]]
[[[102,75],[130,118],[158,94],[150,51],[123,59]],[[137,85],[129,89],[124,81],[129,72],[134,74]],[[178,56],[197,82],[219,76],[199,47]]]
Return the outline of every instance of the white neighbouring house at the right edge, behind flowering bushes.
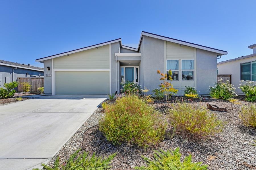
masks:
[[[232,84],[238,94],[243,94],[240,88],[240,80],[256,81],[256,44],[248,46],[253,49],[253,54],[241,56],[217,63],[218,74],[231,75]]]

